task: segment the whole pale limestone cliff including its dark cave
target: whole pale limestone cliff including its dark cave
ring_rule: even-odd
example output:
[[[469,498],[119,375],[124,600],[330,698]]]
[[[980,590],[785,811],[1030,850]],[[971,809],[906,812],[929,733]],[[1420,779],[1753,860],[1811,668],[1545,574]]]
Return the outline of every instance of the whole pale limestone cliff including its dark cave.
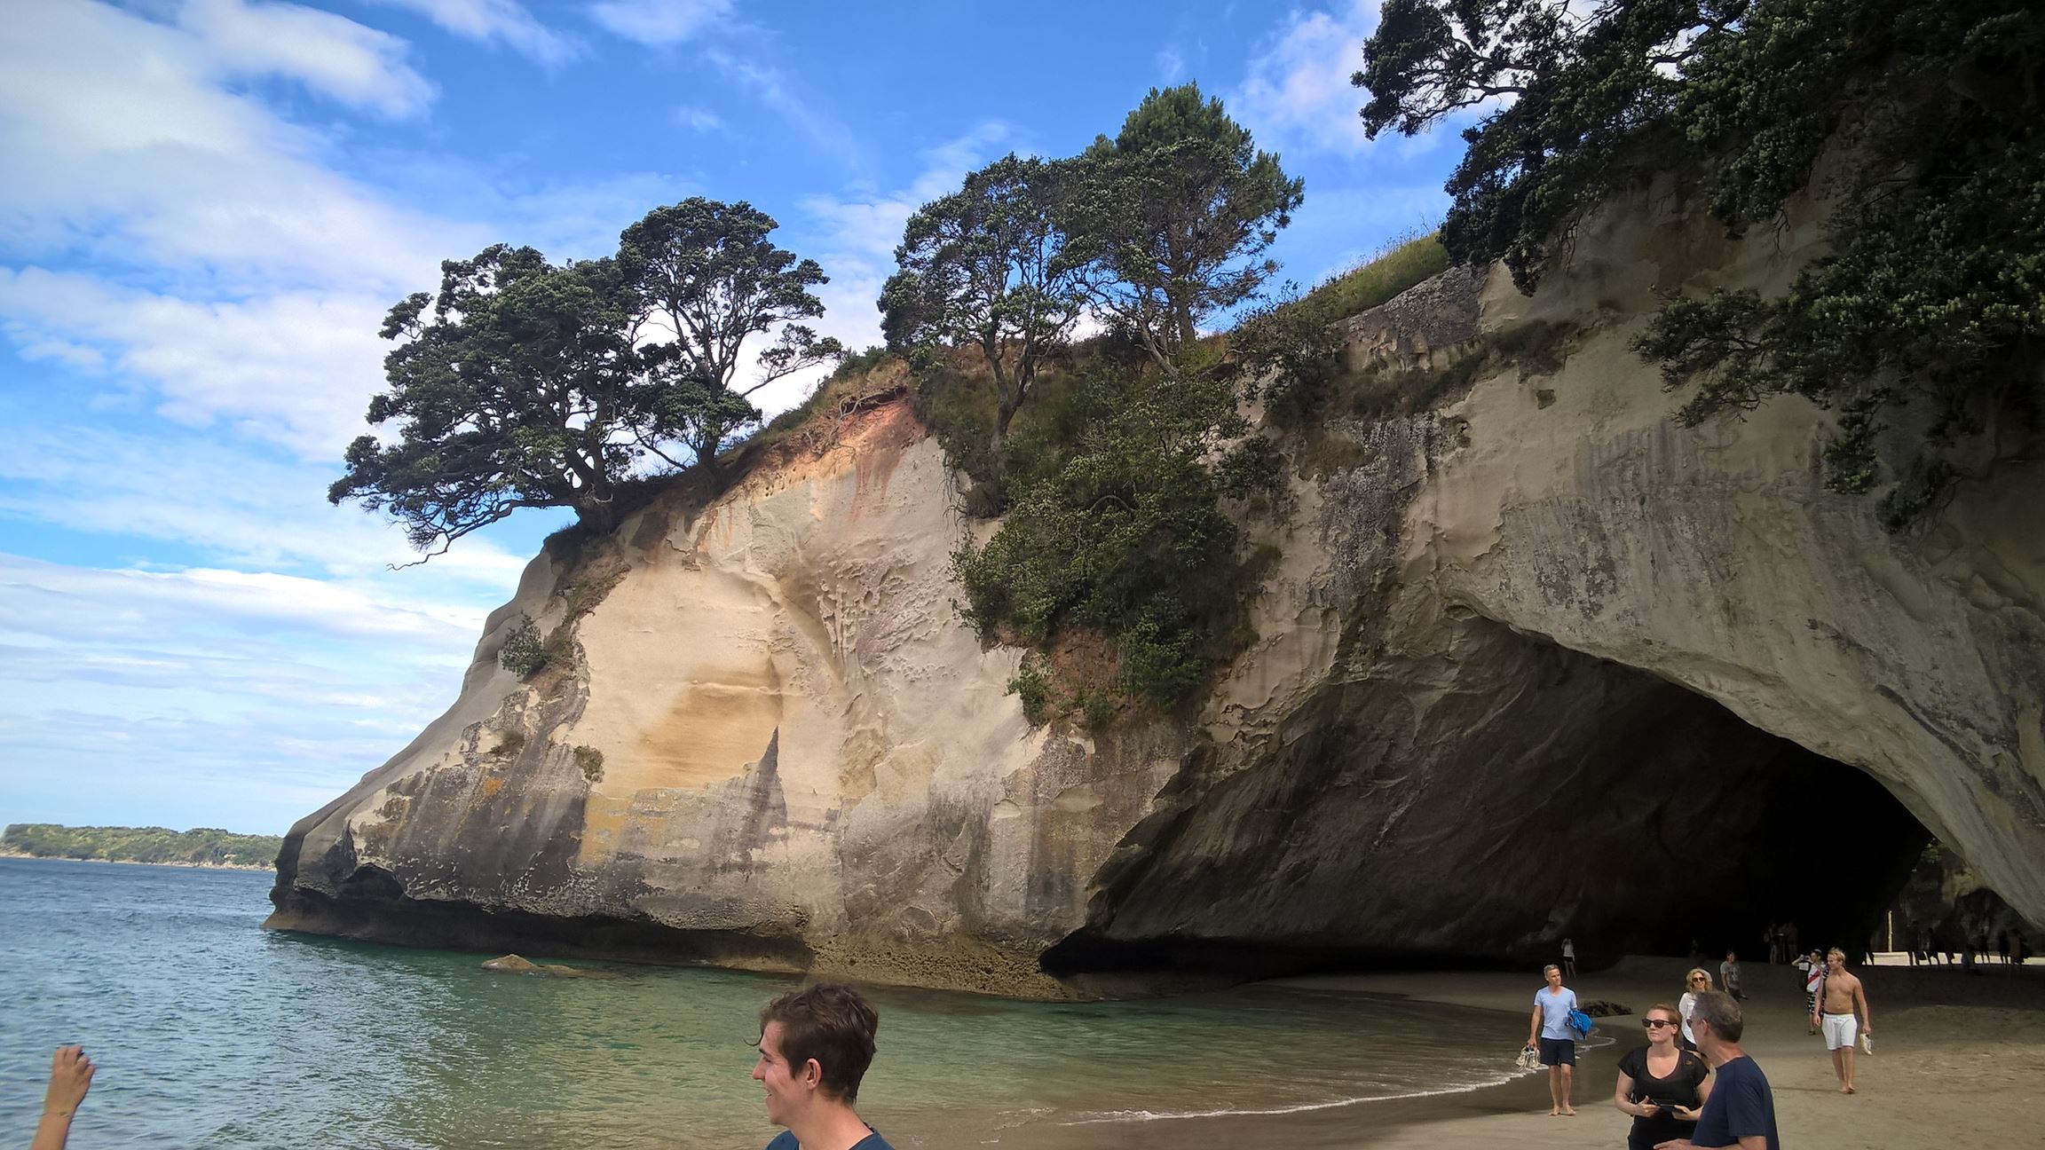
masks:
[[[1804,211],[1728,241],[1642,194],[1532,299],[1452,272],[1350,321],[1358,364],[1483,360],[1290,444],[1260,638],[1190,720],[1031,728],[951,606],[986,524],[937,442],[820,417],[538,557],[454,708],[292,829],[270,923],[1053,994],[1843,939],[1916,823],[2045,921],[2037,465],[1890,536],[1824,491],[1824,411],[1681,430],[1626,348],[1656,291],[1787,282]],[[571,612],[566,665],[497,665]]]

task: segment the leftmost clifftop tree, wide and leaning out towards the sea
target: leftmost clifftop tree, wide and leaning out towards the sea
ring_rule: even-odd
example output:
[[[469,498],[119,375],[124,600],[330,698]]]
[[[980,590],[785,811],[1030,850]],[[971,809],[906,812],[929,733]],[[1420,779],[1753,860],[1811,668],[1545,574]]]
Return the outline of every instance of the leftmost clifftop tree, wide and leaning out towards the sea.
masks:
[[[431,313],[427,309],[431,307]],[[636,368],[616,266],[554,266],[497,244],[440,266],[440,293],[391,309],[382,338],[391,389],[327,499],[360,499],[440,555],[519,507],[575,507],[607,522],[611,487],[632,465],[626,387]]]

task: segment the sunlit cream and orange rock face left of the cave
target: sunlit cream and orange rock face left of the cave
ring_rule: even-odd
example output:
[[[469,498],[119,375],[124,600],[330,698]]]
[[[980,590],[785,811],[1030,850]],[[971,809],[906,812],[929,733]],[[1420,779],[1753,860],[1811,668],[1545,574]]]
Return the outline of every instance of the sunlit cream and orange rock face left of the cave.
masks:
[[[454,710],[292,829],[272,925],[1061,992],[1037,954],[1190,735],[1033,731],[953,612],[953,501],[892,403],[542,555]],[[620,571],[575,667],[497,667]]]

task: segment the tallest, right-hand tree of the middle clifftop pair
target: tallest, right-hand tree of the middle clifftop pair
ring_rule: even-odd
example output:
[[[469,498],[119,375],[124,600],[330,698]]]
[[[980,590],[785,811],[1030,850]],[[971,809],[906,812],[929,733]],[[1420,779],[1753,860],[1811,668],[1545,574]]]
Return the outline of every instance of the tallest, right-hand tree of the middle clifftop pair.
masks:
[[[1082,156],[1070,217],[1074,248],[1106,272],[1090,280],[1092,301],[1174,364],[1202,319],[1278,270],[1264,252],[1301,198],[1301,180],[1221,100],[1198,84],[1151,88],[1115,139]]]

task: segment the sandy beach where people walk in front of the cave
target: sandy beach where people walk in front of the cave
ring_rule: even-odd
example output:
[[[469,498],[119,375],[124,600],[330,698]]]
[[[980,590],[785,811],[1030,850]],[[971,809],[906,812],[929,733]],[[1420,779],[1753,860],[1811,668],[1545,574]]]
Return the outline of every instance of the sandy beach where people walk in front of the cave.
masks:
[[[1624,1003],[1638,1015],[1656,1001],[1673,1003],[1687,966],[1673,958],[1630,958],[1609,970],[1583,972],[1571,986],[1583,1001]],[[1861,974],[1875,1017],[1875,1054],[1859,1060],[1859,1093],[1845,1097],[1824,1044],[1804,1033],[1802,976],[1787,966],[1746,964],[1742,1046],[1775,1089],[1785,1148],[2037,1142],[2037,1103],[2045,1097],[2045,968],[2033,964],[2012,976],[1992,964],[1969,976],[1959,966],[1873,966]],[[1526,1015],[1540,986],[1534,974],[1468,972],[1292,982],[1509,1011],[1499,1017],[1495,1035],[1470,1035],[1495,1044],[1501,1060],[1526,1037]],[[1372,1150],[1624,1146],[1630,1119],[1611,1107],[1611,1089],[1620,1054],[1642,1042],[1640,1025],[1636,1017],[1603,1019],[1601,1033],[1616,1042],[1581,1058],[1577,1117],[1550,1117],[1546,1078],[1530,1074],[1466,1095],[1356,1107],[1348,1115],[1354,1123],[1350,1144]]]

